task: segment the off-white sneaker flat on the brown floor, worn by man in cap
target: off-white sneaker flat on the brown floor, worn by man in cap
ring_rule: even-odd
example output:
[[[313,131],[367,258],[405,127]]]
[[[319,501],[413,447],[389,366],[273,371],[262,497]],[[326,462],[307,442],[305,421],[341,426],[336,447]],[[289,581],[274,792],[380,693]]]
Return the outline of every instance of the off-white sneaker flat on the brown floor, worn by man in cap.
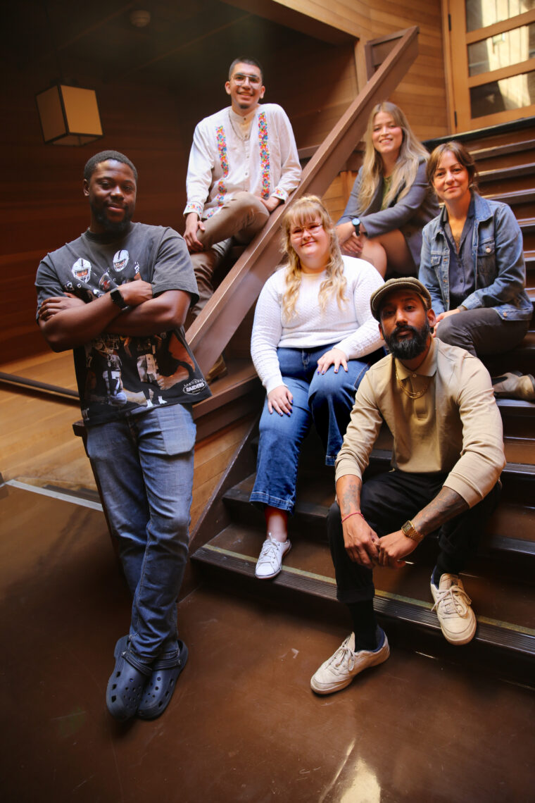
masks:
[[[310,687],[317,695],[330,695],[349,686],[355,675],[359,675],[368,666],[376,666],[386,661],[390,655],[387,634],[379,628],[383,641],[376,650],[358,650],[355,652],[355,633],[351,633],[338,650],[322,663],[315,675],[312,675]]]

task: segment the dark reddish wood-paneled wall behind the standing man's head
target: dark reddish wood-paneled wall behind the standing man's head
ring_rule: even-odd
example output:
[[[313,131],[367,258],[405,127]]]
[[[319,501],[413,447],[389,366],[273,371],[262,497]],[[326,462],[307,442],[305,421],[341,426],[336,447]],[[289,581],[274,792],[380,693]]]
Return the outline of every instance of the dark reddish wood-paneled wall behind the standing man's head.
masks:
[[[103,139],[83,148],[44,145],[34,94],[40,75],[12,76],[0,96],[4,163],[0,177],[0,361],[47,350],[34,322],[35,271],[48,251],[77,237],[89,222],[83,165],[93,153],[127,153],[140,175],[136,219],[180,226],[187,160],[175,97],[161,88],[97,89]]]

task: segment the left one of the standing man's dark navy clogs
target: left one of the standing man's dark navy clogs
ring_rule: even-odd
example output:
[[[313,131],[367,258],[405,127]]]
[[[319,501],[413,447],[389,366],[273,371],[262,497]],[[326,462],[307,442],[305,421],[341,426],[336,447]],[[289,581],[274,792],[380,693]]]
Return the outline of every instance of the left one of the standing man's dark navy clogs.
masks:
[[[120,722],[136,715],[144,688],[152,674],[152,667],[147,667],[147,671],[142,672],[128,662],[127,646],[128,636],[123,636],[116,643],[113,652],[116,666],[106,690],[107,710]]]

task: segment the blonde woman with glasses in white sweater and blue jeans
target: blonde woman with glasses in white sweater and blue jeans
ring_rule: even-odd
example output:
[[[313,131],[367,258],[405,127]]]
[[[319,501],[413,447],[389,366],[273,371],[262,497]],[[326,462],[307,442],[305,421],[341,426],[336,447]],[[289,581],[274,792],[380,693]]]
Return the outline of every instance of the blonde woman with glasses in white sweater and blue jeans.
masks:
[[[304,196],[282,221],[287,262],[262,288],[251,354],[267,397],[250,500],[264,507],[266,539],[256,576],[275,577],[290,549],[299,450],[314,422],[334,465],[364,373],[380,357],[370,296],[383,279],[340,253],[319,198]],[[378,351],[379,349],[379,351]]]

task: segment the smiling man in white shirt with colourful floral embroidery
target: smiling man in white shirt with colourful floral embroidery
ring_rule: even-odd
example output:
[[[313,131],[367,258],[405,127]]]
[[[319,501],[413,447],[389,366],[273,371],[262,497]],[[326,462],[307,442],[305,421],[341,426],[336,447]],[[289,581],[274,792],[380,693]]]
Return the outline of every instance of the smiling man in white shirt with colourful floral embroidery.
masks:
[[[199,287],[195,317],[213,295],[213,271],[232,238],[249,243],[301,178],[286,112],[277,104],[260,105],[260,64],[235,59],[225,91],[231,105],[197,124],[189,155],[184,239]]]

